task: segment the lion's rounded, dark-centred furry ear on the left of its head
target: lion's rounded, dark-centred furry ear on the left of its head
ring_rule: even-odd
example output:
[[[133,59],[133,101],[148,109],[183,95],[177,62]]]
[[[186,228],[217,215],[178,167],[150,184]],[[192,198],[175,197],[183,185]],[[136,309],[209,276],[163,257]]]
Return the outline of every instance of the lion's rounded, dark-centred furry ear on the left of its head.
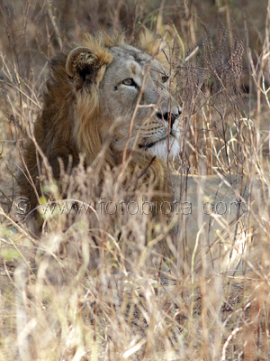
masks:
[[[67,56],[66,70],[76,85],[82,88],[87,84],[97,84],[103,78],[105,66],[112,61],[112,54],[106,50],[78,47]]]

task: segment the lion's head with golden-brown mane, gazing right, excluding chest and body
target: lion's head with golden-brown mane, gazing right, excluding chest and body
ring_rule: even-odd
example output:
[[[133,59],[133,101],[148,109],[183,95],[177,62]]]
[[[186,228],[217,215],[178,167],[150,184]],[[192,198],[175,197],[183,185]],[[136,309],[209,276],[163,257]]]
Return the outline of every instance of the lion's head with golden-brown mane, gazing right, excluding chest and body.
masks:
[[[37,205],[32,187],[40,193],[44,159],[56,179],[61,164],[74,168],[83,153],[85,166],[91,165],[101,152],[111,168],[129,160],[142,171],[152,162],[157,177],[163,175],[158,169],[166,157],[179,153],[181,107],[169,91],[171,74],[160,42],[148,33],[132,45],[122,35],[85,34],[50,67],[36,143],[25,152],[32,181],[22,180],[22,187],[31,208]]]

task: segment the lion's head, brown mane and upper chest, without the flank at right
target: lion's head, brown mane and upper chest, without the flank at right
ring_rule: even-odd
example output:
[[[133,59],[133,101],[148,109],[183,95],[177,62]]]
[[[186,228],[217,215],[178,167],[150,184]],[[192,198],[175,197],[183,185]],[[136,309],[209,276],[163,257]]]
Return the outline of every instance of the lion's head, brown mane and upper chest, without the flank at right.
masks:
[[[82,165],[94,174],[97,199],[108,174],[111,183],[121,183],[121,197],[137,199],[143,192],[157,205],[171,199],[166,162],[180,152],[184,121],[170,91],[173,75],[164,43],[147,31],[132,41],[123,34],[85,33],[50,60],[49,69],[20,178],[39,230],[39,206],[54,197],[48,183],[66,199],[70,188],[63,173],[74,183]]]

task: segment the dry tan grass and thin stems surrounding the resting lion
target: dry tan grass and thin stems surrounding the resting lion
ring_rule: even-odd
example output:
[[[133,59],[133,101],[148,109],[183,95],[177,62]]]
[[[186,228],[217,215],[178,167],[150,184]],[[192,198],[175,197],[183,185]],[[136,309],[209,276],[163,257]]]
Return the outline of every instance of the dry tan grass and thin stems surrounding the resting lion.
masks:
[[[245,174],[265,190],[270,4],[261,1],[258,9],[252,0],[231,3],[0,3],[0,360],[270,358],[265,193],[257,197],[255,192],[247,211],[247,218],[257,219],[257,229],[243,228],[245,246],[252,250],[240,257],[247,273],[209,274],[203,259],[200,272],[193,266],[183,272],[175,257],[167,261],[174,282],[155,277],[146,266],[155,256],[151,245],[164,238],[169,242],[167,225],[157,225],[146,247],[143,218],[122,218],[111,232],[107,216],[99,215],[95,236],[103,252],[89,268],[94,230],[88,229],[85,212],[68,224],[66,211],[48,210],[47,230],[37,240],[22,218],[23,203],[18,208],[23,143],[42,107],[47,60],[79,32],[100,28],[132,36],[147,26],[169,42],[175,97],[183,102],[186,121],[184,151],[173,170],[218,173],[226,180]],[[93,174],[80,176],[87,204],[94,202],[94,194],[87,194]],[[117,184],[110,187],[107,197],[119,196]]]

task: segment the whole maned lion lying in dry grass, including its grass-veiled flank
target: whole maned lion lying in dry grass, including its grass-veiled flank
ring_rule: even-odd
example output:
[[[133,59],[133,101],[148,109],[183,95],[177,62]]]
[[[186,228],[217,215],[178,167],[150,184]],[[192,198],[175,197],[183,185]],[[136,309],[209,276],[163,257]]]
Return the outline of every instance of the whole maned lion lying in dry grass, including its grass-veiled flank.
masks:
[[[132,197],[139,190],[148,194],[148,200],[156,202],[157,208],[167,201],[175,206],[177,194],[176,198],[182,201],[182,214],[176,220],[179,229],[178,233],[175,230],[170,233],[165,246],[165,255],[173,255],[175,264],[198,269],[201,255],[207,255],[208,264],[216,258],[221,264],[224,257],[230,260],[229,247],[235,245],[235,236],[233,231],[229,232],[229,225],[238,225],[239,216],[244,217],[235,206],[241,194],[236,195],[234,180],[228,184],[220,181],[220,177],[203,181],[189,177],[184,190],[191,197],[188,199],[181,191],[182,176],[169,174],[167,169],[167,159],[180,152],[184,136],[182,109],[170,91],[171,77],[162,42],[154,42],[149,32],[142,32],[132,42],[122,34],[86,33],[81,41],[53,58],[43,111],[26,146],[25,169],[20,178],[31,212],[44,196],[49,199],[44,187],[48,178],[57,180],[61,196],[67,197],[63,171],[72,177],[83,159],[85,170],[90,167],[92,173],[96,172],[99,196],[108,172],[112,180],[114,177],[122,184],[123,195]],[[208,198],[202,202],[200,196],[204,208],[195,212],[202,183]],[[229,207],[221,215],[223,218],[229,215],[227,223],[220,220],[222,209],[218,208],[216,216],[209,210],[211,199],[217,195],[220,199],[215,203]],[[154,220],[157,223],[159,218],[155,216]],[[201,252],[199,245],[202,233],[205,252]],[[238,264],[239,256],[236,259]]]

